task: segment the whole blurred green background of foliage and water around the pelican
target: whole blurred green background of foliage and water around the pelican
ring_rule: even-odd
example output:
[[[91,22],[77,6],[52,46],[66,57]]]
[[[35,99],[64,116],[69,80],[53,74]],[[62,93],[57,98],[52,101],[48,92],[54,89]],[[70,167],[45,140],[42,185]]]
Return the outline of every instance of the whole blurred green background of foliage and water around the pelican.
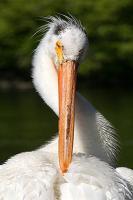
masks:
[[[133,167],[132,12],[132,0],[0,1],[1,162],[57,132],[57,117],[32,89],[31,60],[42,37],[33,35],[44,24],[42,17],[71,13],[85,26],[90,44],[79,91],[117,128],[118,163]]]

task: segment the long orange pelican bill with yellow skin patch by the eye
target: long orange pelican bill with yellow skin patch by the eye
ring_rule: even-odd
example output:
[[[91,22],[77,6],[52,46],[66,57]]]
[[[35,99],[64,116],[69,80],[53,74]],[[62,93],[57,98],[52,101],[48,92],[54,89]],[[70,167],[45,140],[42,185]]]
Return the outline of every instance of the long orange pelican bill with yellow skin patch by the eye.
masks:
[[[63,53],[60,43],[56,48],[58,68],[59,92],[59,165],[62,173],[67,172],[72,161],[74,139],[75,93],[78,63],[75,61],[63,62]]]

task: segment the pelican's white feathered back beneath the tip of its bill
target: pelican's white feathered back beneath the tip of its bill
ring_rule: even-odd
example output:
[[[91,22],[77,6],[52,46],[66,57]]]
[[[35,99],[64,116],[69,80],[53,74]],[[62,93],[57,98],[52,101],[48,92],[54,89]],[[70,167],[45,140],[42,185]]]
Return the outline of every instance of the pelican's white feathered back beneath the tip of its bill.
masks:
[[[18,163],[20,165],[18,165]],[[0,168],[0,199],[4,200],[131,199],[128,184],[107,163],[77,154],[62,176],[57,154],[36,150],[18,154]]]

